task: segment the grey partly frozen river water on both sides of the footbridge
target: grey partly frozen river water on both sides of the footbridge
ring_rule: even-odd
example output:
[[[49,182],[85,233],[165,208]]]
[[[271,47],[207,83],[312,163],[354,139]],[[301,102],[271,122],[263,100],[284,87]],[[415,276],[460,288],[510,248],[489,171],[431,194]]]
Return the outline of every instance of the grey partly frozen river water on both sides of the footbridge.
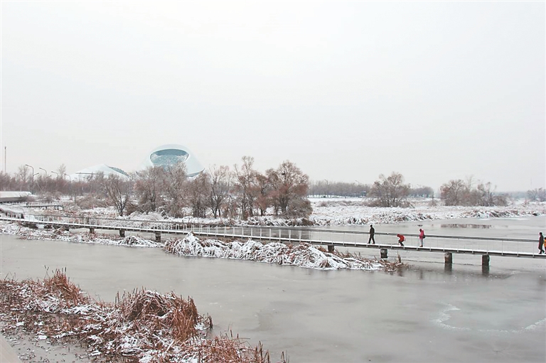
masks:
[[[507,227],[479,228],[480,235],[498,237],[501,228],[506,238],[530,237],[545,229],[546,218],[498,221],[488,224]],[[442,224],[462,223],[424,227]],[[416,222],[399,226],[419,229]],[[482,271],[479,256],[456,255],[445,269],[441,254],[404,252],[412,268],[397,273],[320,271],[6,234],[0,242],[2,277],[42,278],[48,266],[66,268],[102,300],[142,286],[192,296],[200,313],[212,315],[216,332],[261,340],[273,359],[284,350],[294,363],[546,361],[545,261],[494,257]]]

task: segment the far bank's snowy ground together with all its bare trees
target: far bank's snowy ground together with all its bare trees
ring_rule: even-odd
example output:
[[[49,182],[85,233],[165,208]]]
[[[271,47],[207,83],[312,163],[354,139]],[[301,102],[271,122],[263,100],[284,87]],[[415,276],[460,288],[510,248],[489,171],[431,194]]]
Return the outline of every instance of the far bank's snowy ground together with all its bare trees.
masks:
[[[521,203],[497,193],[491,183],[472,177],[449,180],[435,199],[432,188],[405,183],[400,173],[379,175],[371,184],[311,181],[290,161],[260,173],[250,156],[232,168],[212,166],[191,177],[183,163],[148,168],[126,178],[97,173],[72,180],[64,178],[68,176],[64,171],[61,166],[57,178],[43,174],[34,178],[26,166],[15,175],[0,172],[0,190],[33,190],[31,198],[59,202],[70,215],[160,218],[209,225],[396,223],[477,215],[513,217],[544,210],[539,206],[538,210],[522,211]],[[545,199],[542,188],[523,194],[526,203]]]

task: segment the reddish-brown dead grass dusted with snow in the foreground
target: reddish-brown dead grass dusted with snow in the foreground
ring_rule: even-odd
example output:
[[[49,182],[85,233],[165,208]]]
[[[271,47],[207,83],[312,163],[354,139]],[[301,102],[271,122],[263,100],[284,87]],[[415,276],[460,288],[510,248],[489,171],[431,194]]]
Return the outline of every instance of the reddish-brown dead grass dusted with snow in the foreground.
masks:
[[[79,342],[90,359],[107,362],[269,363],[261,343],[250,346],[227,334],[206,338],[212,318],[198,313],[192,298],[145,289],[93,300],[56,270],[43,281],[0,280],[4,329],[45,335],[53,343]],[[284,354],[280,362],[287,362]]]

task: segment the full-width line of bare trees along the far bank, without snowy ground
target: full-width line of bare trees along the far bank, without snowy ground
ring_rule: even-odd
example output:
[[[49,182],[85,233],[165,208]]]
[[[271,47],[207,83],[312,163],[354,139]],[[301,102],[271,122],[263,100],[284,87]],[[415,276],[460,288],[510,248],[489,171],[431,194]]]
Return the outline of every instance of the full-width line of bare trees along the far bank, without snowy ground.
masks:
[[[240,166],[212,166],[189,178],[186,166],[179,163],[167,168],[149,167],[127,178],[97,173],[74,181],[65,178],[68,175],[64,164],[51,172],[56,178],[43,173],[32,175],[26,166],[20,166],[14,175],[0,172],[0,190],[30,190],[50,200],[70,195],[80,207],[114,206],[120,216],[139,211],[184,217],[189,208],[193,217],[210,215],[244,220],[264,216],[269,208],[275,216],[308,217],[312,213],[310,196],[367,197],[365,203],[373,207],[411,207],[409,197],[433,198],[436,203],[432,188],[412,187],[396,172],[379,175],[373,184],[363,184],[358,180],[355,183],[310,181],[291,161],[284,161],[265,173],[259,173],[253,166],[254,158],[243,156]],[[546,201],[546,190],[528,190],[526,197],[530,201]],[[440,199],[444,205],[508,204],[507,194],[496,193],[491,183],[475,182],[473,177],[444,183]]]

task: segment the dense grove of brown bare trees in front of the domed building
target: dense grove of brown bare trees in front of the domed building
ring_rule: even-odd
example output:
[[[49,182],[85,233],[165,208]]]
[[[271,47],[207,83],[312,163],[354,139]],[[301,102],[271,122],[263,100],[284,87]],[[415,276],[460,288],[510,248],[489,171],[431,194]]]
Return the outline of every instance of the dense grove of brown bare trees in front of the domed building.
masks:
[[[61,166],[64,168],[64,166]],[[188,177],[183,162],[174,166],[152,166],[125,176],[94,173],[83,180],[67,180],[47,174],[34,175],[20,168],[16,175],[0,175],[3,190],[34,189],[40,194],[62,193],[105,200],[120,216],[139,212],[161,212],[171,217],[226,217],[248,219],[265,215],[307,217],[309,176],[296,164],[284,161],[277,168],[259,173],[254,158],[244,156],[240,165],[213,166],[197,176]],[[68,175],[67,175],[68,176]],[[34,184],[34,185],[32,185]]]

